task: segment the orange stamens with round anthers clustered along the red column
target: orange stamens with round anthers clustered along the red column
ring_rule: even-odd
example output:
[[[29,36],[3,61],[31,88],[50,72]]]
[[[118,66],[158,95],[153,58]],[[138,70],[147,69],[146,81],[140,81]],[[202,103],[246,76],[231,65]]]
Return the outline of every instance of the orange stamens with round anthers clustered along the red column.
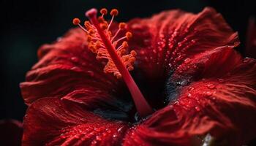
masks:
[[[122,64],[124,64],[124,66],[129,71],[132,71],[134,69],[133,64],[135,63],[135,56],[137,55],[135,50],[131,50],[129,53],[127,51],[129,47],[127,40],[132,38],[132,33],[127,31],[123,37],[119,37],[120,32],[124,31],[127,27],[126,23],[119,23],[118,30],[115,33],[113,31],[110,31],[111,26],[113,26],[113,20],[118,15],[117,9],[112,9],[110,11],[110,15],[112,17],[109,23],[104,18],[104,16],[108,14],[108,9],[103,8],[99,12],[101,13],[101,15],[97,18],[97,20],[99,22],[99,27],[102,29],[102,33],[105,34],[105,39],[108,39],[110,41],[110,45],[112,45],[112,47],[116,50],[118,57],[121,58]],[[90,9],[86,12],[86,16],[90,20],[96,15],[97,9]],[[94,26],[94,24],[90,21],[85,21],[82,26],[80,25],[79,18],[74,18],[73,24],[79,26],[83,31],[86,32],[86,34],[88,34],[87,40],[89,42],[89,50],[97,54],[96,58],[98,60],[108,60],[108,63],[103,69],[104,72],[112,73],[118,79],[121,78],[121,73],[118,71],[116,64],[114,64],[113,59],[108,53],[108,48],[103,42],[104,40],[102,40],[102,37],[100,37],[97,27]]]

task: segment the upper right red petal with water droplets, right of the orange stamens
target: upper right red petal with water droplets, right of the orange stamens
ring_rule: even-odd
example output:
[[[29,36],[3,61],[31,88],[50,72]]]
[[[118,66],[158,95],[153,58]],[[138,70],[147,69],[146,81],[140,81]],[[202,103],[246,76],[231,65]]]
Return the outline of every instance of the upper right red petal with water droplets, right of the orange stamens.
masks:
[[[239,44],[238,34],[212,8],[197,15],[181,10],[161,12],[152,18],[132,20],[128,26],[134,36],[130,46],[138,52],[137,67],[150,78],[165,76],[199,53]]]

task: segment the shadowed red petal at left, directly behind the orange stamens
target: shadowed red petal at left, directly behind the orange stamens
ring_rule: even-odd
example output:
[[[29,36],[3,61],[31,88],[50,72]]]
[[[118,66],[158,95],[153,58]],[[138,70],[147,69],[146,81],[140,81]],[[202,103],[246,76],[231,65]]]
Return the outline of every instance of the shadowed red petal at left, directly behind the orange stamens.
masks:
[[[73,29],[58,42],[39,49],[39,62],[26,75],[26,82],[20,84],[26,104],[42,97],[61,98],[75,90],[89,96],[87,91],[105,95],[117,88],[118,80],[102,72],[101,62],[86,43],[84,32]],[[70,95],[68,99],[73,98]]]

